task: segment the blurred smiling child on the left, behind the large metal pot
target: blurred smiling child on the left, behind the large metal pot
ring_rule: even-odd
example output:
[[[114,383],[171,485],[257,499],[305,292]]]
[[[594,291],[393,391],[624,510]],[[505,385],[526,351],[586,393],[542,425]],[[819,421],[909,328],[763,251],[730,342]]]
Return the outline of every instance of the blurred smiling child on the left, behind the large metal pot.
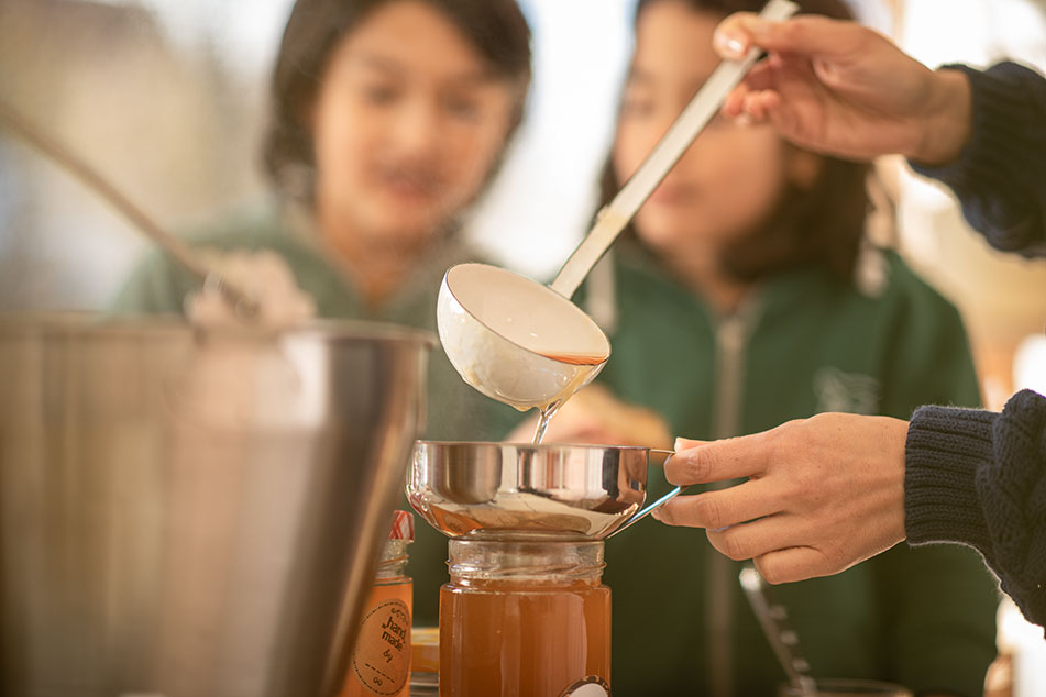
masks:
[[[442,274],[478,261],[454,234],[459,221],[504,156],[529,79],[530,30],[515,0],[297,0],[265,147],[278,202],[190,242],[276,254],[322,318],[434,332]],[[180,313],[197,289],[153,255],[112,309]],[[518,420],[439,348],[428,381],[428,438],[499,438]],[[426,524],[416,535],[415,616],[433,624],[447,541]]]

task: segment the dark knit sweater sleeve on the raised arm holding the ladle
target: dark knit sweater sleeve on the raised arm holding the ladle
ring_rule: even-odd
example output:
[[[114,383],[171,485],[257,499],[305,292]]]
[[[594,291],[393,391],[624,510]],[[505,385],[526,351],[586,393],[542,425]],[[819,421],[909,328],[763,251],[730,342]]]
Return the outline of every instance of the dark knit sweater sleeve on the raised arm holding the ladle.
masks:
[[[1046,78],[1009,62],[986,71],[944,67],[970,81],[970,142],[950,165],[912,166],[955,192],[989,244],[1046,256]]]

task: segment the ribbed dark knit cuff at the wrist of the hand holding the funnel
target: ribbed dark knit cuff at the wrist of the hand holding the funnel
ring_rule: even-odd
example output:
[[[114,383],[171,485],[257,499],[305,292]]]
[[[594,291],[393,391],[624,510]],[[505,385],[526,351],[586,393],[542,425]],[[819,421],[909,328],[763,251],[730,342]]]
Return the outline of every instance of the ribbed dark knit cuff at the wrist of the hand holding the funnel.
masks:
[[[979,463],[992,456],[998,414],[920,407],[909,423],[904,453],[904,527],[909,542],[960,542],[991,557],[977,497]]]

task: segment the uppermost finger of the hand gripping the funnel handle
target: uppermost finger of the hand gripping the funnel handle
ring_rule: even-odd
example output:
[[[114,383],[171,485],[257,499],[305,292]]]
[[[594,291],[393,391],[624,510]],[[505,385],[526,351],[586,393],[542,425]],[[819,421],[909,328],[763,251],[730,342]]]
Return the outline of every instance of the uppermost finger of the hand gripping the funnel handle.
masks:
[[[750,477],[766,469],[770,452],[762,433],[703,443],[676,439],[664,478],[676,486]]]

